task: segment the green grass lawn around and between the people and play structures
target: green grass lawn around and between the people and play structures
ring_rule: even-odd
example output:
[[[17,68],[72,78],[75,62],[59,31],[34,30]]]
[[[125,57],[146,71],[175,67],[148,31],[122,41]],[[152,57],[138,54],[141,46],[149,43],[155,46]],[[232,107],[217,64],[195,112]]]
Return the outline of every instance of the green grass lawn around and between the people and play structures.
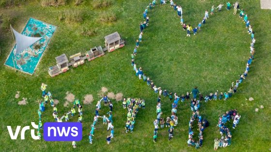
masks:
[[[24,0],[18,5],[3,7],[4,1],[0,0],[0,151],[196,151],[195,148],[187,147],[186,143],[191,116],[188,102],[180,103],[178,107],[179,124],[175,128],[173,140],[168,141],[168,132],[164,128],[158,131],[157,142],[152,141],[157,94],[135,77],[130,57],[139,35],[139,23],[143,21],[142,12],[150,0],[112,0],[112,5],[102,8],[93,8],[92,0],[84,0],[79,6],[75,6],[74,0],[67,0],[66,5],[59,7],[42,7],[40,0]],[[226,0],[174,1],[182,6],[184,22],[193,27],[202,20],[206,9],[210,12],[212,5],[217,6],[220,2],[226,4]],[[216,127],[218,117],[229,109],[238,109],[241,121],[235,130],[231,129],[231,146],[220,148],[219,151],[271,150],[271,11],[261,10],[260,0],[240,0],[240,5],[248,14],[255,31],[255,59],[248,78],[240,84],[237,94],[227,101],[202,103],[201,115],[209,120],[211,126],[204,131],[203,147],[199,151],[213,150],[213,139],[220,138]],[[67,15],[73,10],[77,11],[79,17],[60,20],[63,14]],[[115,15],[116,20],[103,22],[103,16],[107,13]],[[137,67],[142,67],[157,86],[179,95],[190,92],[195,85],[204,95],[216,90],[225,92],[231,82],[237,80],[238,75],[245,70],[251,41],[244,23],[238,15],[232,13],[233,10],[226,11],[225,7],[221,13],[215,12],[196,36],[188,38],[181,28],[177,13],[169,4],[149,10],[150,26],[144,31],[137,50]],[[29,17],[58,27],[49,43],[49,49],[45,51],[32,76],[18,71],[15,73],[13,69],[4,66],[14,45],[9,24],[20,31]],[[94,35],[88,36],[85,31],[94,31]],[[56,64],[56,56],[63,53],[69,56],[80,51],[85,53],[93,46],[103,46],[104,36],[115,31],[126,41],[123,48],[106,53],[78,68],[71,68],[54,78],[48,75],[47,68]],[[85,95],[93,95],[93,103],[83,105],[83,140],[77,142],[76,149],[71,142],[33,140],[30,132],[26,132],[25,140],[21,140],[20,136],[17,140],[10,139],[7,125],[15,128],[17,125],[30,125],[30,122],[37,124],[38,103],[35,101],[42,99],[41,83],[46,83],[47,90],[60,101],[57,105],[59,115],[70,110],[64,107],[67,91],[81,101]],[[112,100],[115,138],[110,145],[106,144],[105,138],[109,132],[106,131],[107,126],[100,121],[96,125],[93,144],[90,145],[88,133],[95,105],[100,99],[98,94],[101,87],[108,88],[108,92],[122,93],[124,97],[143,98],[146,100],[146,109],[139,110],[134,132],[125,134],[127,112],[122,109],[121,101]],[[16,91],[20,91],[18,99],[15,98]],[[27,98],[28,104],[18,105],[23,97]],[[249,97],[254,100],[246,100]],[[260,109],[260,105],[264,108]],[[258,112],[255,112],[256,108]],[[102,105],[100,115],[107,111],[108,107]],[[168,98],[162,97],[162,111],[164,118],[170,115],[171,103]],[[52,108],[47,105],[43,122],[54,121],[52,112]],[[77,121],[76,117],[70,117],[70,120]]]

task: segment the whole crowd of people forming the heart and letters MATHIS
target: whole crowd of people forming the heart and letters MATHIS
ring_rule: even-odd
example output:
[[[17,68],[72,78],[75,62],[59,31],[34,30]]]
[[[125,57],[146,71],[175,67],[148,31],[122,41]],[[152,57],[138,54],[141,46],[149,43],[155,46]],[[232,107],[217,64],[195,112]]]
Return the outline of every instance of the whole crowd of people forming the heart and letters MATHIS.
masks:
[[[160,0],[160,4],[164,5],[166,4],[167,0]],[[203,20],[199,22],[196,28],[192,28],[190,24],[186,24],[183,19],[182,15],[182,8],[181,5],[177,5],[176,3],[173,2],[173,0],[168,0],[170,3],[170,7],[172,7],[175,11],[177,11],[178,17],[180,18],[180,23],[182,25],[183,30],[187,30],[187,36],[190,37],[190,32],[193,30],[194,35],[196,35],[197,30],[201,29],[202,24],[206,23],[206,20],[209,18],[209,12],[206,10],[205,11],[205,16],[203,17]],[[218,12],[222,11],[223,4],[219,4],[218,7]],[[135,64],[135,56],[137,55],[137,49],[139,48],[139,44],[142,41],[142,36],[144,33],[144,30],[149,26],[149,21],[150,17],[148,16],[148,9],[153,9],[154,7],[157,7],[156,0],[153,0],[149,6],[146,7],[145,11],[143,12],[143,19],[144,21],[140,23],[140,33],[139,33],[139,39],[136,40],[135,43],[135,48],[133,54],[131,54],[132,57],[132,66],[133,70],[135,71],[135,75],[141,80],[143,79],[143,82],[147,83],[153,89],[153,92],[155,94],[158,94],[158,99],[157,99],[157,104],[156,104],[156,119],[153,122],[154,125],[154,131],[153,131],[153,142],[157,141],[158,137],[158,130],[159,128],[163,129],[166,124],[166,128],[168,128],[168,140],[171,141],[173,138],[173,133],[174,133],[174,127],[178,125],[178,116],[177,116],[177,109],[178,109],[178,103],[179,100],[181,99],[181,102],[185,101],[190,101],[190,108],[192,111],[192,115],[190,117],[189,121],[189,131],[188,131],[188,140],[187,144],[188,146],[195,146],[196,149],[202,146],[203,144],[203,132],[206,129],[206,127],[209,126],[209,122],[206,119],[203,119],[199,109],[201,102],[205,101],[211,101],[211,100],[227,100],[229,97],[232,97],[234,93],[237,92],[237,89],[240,85],[240,83],[243,82],[243,80],[246,79],[248,72],[249,72],[249,67],[252,64],[252,61],[254,59],[254,54],[255,54],[255,32],[252,30],[252,26],[250,24],[250,21],[248,20],[248,15],[244,13],[243,9],[240,9],[239,2],[235,2],[233,5],[234,9],[234,15],[237,14],[237,10],[240,10],[239,17],[242,19],[243,23],[245,23],[245,28],[248,29],[247,33],[251,35],[251,43],[250,43],[250,56],[248,58],[248,61],[246,63],[245,71],[240,74],[240,78],[236,80],[235,82],[232,82],[230,85],[230,88],[226,92],[218,92],[218,90],[214,93],[206,94],[206,96],[203,96],[198,90],[198,88],[195,86],[191,92],[187,92],[186,95],[182,94],[181,96],[178,96],[177,93],[172,93],[168,92],[166,89],[163,90],[161,87],[158,87],[154,84],[154,82],[150,79],[150,77],[146,76],[146,74],[143,72],[143,69],[141,67],[137,68]],[[214,14],[214,5],[211,7],[211,15]],[[230,2],[226,3],[226,10],[231,9],[231,4]],[[42,124],[42,112],[45,111],[45,106],[47,104],[50,104],[50,107],[52,107],[53,111],[53,118],[56,122],[62,122],[62,119],[65,118],[65,121],[69,121],[69,115],[72,117],[75,116],[75,109],[77,108],[78,110],[78,120],[77,122],[82,123],[82,105],[80,104],[79,99],[75,99],[73,102],[73,107],[71,107],[71,110],[64,113],[62,116],[58,115],[58,109],[56,105],[54,104],[54,99],[52,97],[52,94],[50,92],[46,92],[46,84],[42,83],[41,85],[41,90],[42,90],[42,97],[44,98],[43,101],[39,101],[39,109],[38,109],[38,115],[39,115],[39,123],[38,123],[38,131],[37,134],[41,138],[41,132],[40,129],[43,129],[43,124]],[[192,97],[190,97],[192,95]],[[165,119],[162,117],[162,107],[161,107],[161,97],[168,97],[170,101],[173,100],[172,102],[172,110],[171,110],[171,115],[167,116]],[[108,106],[110,111],[107,112],[106,115],[100,116],[99,111],[101,110],[101,102],[104,101],[104,105]],[[145,100],[140,99],[140,98],[124,98],[122,100],[122,106],[123,109],[127,109],[127,121],[125,124],[125,132],[133,132],[134,129],[134,124],[135,124],[135,116],[137,112],[139,111],[140,108],[144,109],[145,108]],[[89,142],[92,144],[92,138],[94,137],[94,130],[95,130],[95,125],[98,122],[98,119],[101,118],[103,120],[103,124],[107,124],[107,131],[110,130],[110,135],[106,137],[106,141],[108,144],[110,144],[111,138],[114,138],[114,126],[113,126],[113,116],[112,116],[112,111],[113,111],[113,103],[108,99],[106,95],[102,99],[100,99],[97,104],[96,104],[96,109],[95,109],[95,116],[93,118],[93,123],[90,126],[90,133],[89,133]],[[223,114],[222,117],[219,118],[217,126],[219,127],[221,138],[216,138],[214,139],[214,150],[217,150],[218,147],[226,147],[231,145],[231,138],[232,134],[229,130],[229,128],[225,125],[227,122],[230,122],[230,120],[233,120],[233,125],[232,128],[235,129],[237,124],[239,124],[240,121],[240,114],[237,112],[237,110],[230,110],[226,111],[226,113]],[[160,125],[160,127],[159,127]],[[197,130],[199,131],[198,135],[198,141],[193,138],[195,136],[193,127],[194,125],[197,125]],[[226,136],[224,136],[226,134]],[[76,142],[73,141],[72,145],[74,148],[76,148]]]

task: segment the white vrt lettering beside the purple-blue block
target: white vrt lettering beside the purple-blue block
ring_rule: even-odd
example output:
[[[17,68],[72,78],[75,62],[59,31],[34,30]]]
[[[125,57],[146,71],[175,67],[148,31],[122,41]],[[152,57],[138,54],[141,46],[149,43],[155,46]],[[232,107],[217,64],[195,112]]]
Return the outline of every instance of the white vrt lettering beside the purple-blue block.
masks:
[[[40,139],[39,136],[35,136],[35,129],[38,129],[38,125],[36,125],[34,122],[31,122],[31,125],[34,128],[34,129],[31,129],[31,137],[33,139],[35,139],[35,140]],[[11,128],[10,125],[8,125],[7,128],[8,128],[8,131],[9,131],[10,138],[13,139],[13,140],[17,139],[17,137],[19,135],[19,132],[20,132],[20,129],[21,129],[21,126],[18,125],[16,127],[15,134],[13,134],[13,131],[12,131],[12,128]],[[28,126],[24,126],[22,128],[22,130],[21,130],[21,139],[25,139],[25,132],[27,130],[30,130],[30,126],[29,125]]]

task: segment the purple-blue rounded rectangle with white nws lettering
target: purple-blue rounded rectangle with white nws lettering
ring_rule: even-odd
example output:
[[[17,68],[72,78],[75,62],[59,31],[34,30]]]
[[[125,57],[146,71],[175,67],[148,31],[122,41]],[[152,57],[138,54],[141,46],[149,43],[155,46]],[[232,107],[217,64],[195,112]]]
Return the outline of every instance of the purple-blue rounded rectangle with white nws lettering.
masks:
[[[45,123],[45,141],[80,141],[82,140],[82,124],[69,123]]]

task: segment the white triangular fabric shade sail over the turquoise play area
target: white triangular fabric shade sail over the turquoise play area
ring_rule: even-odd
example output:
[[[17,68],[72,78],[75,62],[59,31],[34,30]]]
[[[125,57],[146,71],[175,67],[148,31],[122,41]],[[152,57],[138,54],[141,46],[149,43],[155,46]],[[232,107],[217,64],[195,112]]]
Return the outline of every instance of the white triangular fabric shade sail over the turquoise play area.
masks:
[[[19,32],[15,31],[14,28],[12,28],[12,30],[16,39],[15,55],[21,53],[26,48],[30,47],[32,44],[34,44],[36,41],[39,41],[42,38],[42,37],[29,37],[29,36],[20,34]]]

